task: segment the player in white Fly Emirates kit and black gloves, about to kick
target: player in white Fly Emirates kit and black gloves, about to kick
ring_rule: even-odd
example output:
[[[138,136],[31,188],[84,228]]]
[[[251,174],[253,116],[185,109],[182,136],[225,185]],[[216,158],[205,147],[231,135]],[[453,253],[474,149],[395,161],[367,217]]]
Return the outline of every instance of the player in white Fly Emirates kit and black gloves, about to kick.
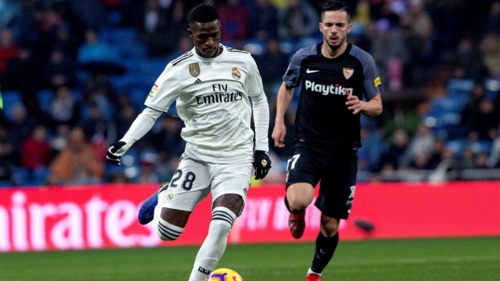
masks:
[[[208,235],[189,281],[203,281],[222,257],[229,230],[243,209],[252,163],[256,179],[271,167],[269,107],[260,74],[249,53],[219,43],[218,18],[215,8],[206,4],[189,12],[194,48],[167,64],[144,102],[147,108],[107,153],[108,160],[119,165],[121,155],[176,101],[186,147],[171,181],[142,204],[138,219],[141,224],[153,221],[162,240],[175,240],[196,204],[211,191]]]

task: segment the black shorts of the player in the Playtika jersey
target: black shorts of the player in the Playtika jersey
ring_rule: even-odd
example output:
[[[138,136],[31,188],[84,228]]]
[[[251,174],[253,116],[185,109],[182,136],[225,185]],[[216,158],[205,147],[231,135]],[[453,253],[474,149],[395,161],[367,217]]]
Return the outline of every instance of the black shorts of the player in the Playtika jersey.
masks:
[[[294,183],[319,184],[314,205],[324,215],[347,219],[354,200],[357,174],[357,149],[342,147],[324,153],[295,144],[288,159],[286,188]]]

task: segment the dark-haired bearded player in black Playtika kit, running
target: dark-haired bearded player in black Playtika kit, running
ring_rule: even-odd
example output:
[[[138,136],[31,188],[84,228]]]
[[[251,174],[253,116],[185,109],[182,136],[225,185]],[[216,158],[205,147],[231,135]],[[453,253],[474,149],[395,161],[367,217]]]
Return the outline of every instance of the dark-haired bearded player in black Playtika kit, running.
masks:
[[[305,209],[321,211],[320,231],[306,281],[320,281],[338,244],[340,219],[347,219],[354,199],[360,113],[382,112],[380,78],[370,54],[347,42],[350,12],[344,3],[328,1],[321,9],[321,43],[298,50],[283,75],[272,132],[284,146],[284,113],[293,88],[302,83],[294,124],[294,146],[288,160],[285,205],[294,238],[302,236]],[[363,100],[364,98],[364,100]]]

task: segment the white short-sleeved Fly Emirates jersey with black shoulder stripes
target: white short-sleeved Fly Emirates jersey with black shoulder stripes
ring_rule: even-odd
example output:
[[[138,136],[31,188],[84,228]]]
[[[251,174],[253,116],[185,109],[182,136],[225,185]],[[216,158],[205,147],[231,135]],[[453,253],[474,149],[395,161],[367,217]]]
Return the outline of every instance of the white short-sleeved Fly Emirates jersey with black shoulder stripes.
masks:
[[[249,97],[264,95],[262,80],[249,53],[220,47],[222,53],[214,58],[201,57],[193,48],[169,62],[144,105],[166,112],[176,101],[189,158],[211,163],[251,160]]]

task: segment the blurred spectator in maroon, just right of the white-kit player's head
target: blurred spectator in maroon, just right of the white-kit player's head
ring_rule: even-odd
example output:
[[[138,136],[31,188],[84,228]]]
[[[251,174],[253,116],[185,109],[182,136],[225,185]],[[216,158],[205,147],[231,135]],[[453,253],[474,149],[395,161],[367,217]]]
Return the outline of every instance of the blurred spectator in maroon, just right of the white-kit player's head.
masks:
[[[245,38],[248,34],[248,7],[239,0],[227,0],[218,8],[220,40]]]

